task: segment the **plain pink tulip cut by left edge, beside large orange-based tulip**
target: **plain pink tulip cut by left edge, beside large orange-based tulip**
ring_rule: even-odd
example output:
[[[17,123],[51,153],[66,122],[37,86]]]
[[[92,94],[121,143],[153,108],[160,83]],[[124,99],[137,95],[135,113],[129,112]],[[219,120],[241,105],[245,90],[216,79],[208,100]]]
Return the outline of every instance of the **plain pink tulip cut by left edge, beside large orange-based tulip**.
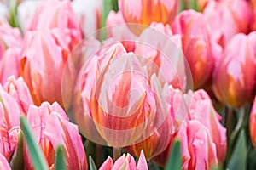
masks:
[[[4,54],[0,63],[0,82],[4,84],[8,77],[19,77],[20,71],[20,48],[12,47],[8,48]]]

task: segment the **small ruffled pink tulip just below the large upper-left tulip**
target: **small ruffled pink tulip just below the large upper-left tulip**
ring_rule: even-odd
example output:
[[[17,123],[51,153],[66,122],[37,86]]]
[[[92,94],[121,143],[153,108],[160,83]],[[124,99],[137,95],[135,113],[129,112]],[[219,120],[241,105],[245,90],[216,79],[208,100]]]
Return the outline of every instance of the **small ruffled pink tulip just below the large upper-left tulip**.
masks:
[[[16,79],[15,77],[9,77],[4,84],[4,90],[16,100],[20,111],[26,115],[29,105],[33,105],[33,101],[23,78],[19,77]]]

